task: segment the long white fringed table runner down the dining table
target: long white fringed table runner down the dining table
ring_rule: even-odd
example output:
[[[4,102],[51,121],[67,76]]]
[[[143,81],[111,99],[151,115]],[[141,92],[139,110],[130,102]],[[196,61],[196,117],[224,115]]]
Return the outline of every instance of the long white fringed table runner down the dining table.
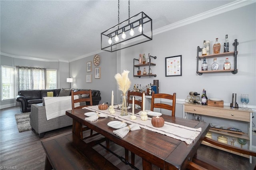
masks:
[[[140,119],[140,115],[134,114],[136,115],[137,119],[131,120],[130,116],[132,115],[132,113],[129,113],[129,115],[127,116],[120,116],[120,110],[115,109],[115,113],[110,114],[108,110],[99,110],[98,105],[85,107],[85,109],[95,111],[98,113],[105,113],[109,117],[113,117],[115,119],[125,121],[130,124],[137,123],[138,125],[140,125],[141,128],[145,128],[160,134],[165,134],[166,136],[184,141],[186,142],[186,144],[192,144],[192,142],[195,140],[198,134],[200,134],[200,132],[202,131],[202,128],[190,128],[170,122],[164,122],[163,127],[157,128],[153,127],[153,125],[151,124],[151,118],[148,118],[147,121],[142,121]]]

